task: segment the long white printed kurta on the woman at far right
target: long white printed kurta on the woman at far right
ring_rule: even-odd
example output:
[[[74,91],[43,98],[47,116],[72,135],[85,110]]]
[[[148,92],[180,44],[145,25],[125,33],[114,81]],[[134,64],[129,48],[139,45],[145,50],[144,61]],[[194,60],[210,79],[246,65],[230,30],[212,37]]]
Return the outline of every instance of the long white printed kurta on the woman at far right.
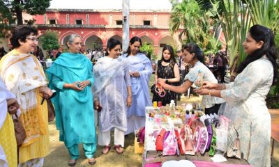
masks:
[[[271,166],[271,116],[265,99],[272,81],[273,66],[263,56],[247,65],[234,82],[226,84],[226,89],[221,91],[227,101],[223,115],[232,120],[227,152],[234,149],[238,134],[243,158],[253,167]]]

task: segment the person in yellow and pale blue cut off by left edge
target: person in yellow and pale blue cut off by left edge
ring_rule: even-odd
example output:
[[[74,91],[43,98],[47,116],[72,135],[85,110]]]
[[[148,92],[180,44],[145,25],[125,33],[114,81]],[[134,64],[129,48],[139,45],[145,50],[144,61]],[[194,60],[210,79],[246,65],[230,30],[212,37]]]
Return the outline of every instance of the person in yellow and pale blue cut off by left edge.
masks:
[[[15,95],[0,79],[0,166],[17,167],[17,141],[12,114],[20,108]]]

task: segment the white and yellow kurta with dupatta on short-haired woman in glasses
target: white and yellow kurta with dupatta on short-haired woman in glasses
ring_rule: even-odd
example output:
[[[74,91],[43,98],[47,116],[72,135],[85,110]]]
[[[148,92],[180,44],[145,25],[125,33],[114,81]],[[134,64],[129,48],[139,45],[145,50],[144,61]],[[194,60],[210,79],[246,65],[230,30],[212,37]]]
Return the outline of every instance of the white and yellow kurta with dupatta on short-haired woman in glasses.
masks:
[[[49,146],[47,105],[46,102],[40,105],[38,93],[40,86],[47,85],[43,67],[35,56],[20,54],[14,49],[1,59],[0,74],[20,104],[21,113],[18,114],[27,132],[20,147],[20,163],[45,157]]]

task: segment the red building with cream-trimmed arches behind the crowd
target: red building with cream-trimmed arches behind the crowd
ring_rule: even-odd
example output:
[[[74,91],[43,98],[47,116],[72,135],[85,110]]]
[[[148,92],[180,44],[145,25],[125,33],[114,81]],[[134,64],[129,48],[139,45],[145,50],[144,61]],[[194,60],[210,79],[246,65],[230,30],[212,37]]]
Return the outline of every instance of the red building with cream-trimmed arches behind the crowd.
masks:
[[[160,57],[165,45],[179,47],[177,35],[169,33],[169,10],[131,10],[129,16],[130,38],[137,35],[142,42],[156,48]],[[59,43],[76,33],[82,37],[84,49],[105,48],[107,40],[122,38],[122,10],[48,9],[45,15],[35,15],[40,35],[47,29],[59,33]]]

